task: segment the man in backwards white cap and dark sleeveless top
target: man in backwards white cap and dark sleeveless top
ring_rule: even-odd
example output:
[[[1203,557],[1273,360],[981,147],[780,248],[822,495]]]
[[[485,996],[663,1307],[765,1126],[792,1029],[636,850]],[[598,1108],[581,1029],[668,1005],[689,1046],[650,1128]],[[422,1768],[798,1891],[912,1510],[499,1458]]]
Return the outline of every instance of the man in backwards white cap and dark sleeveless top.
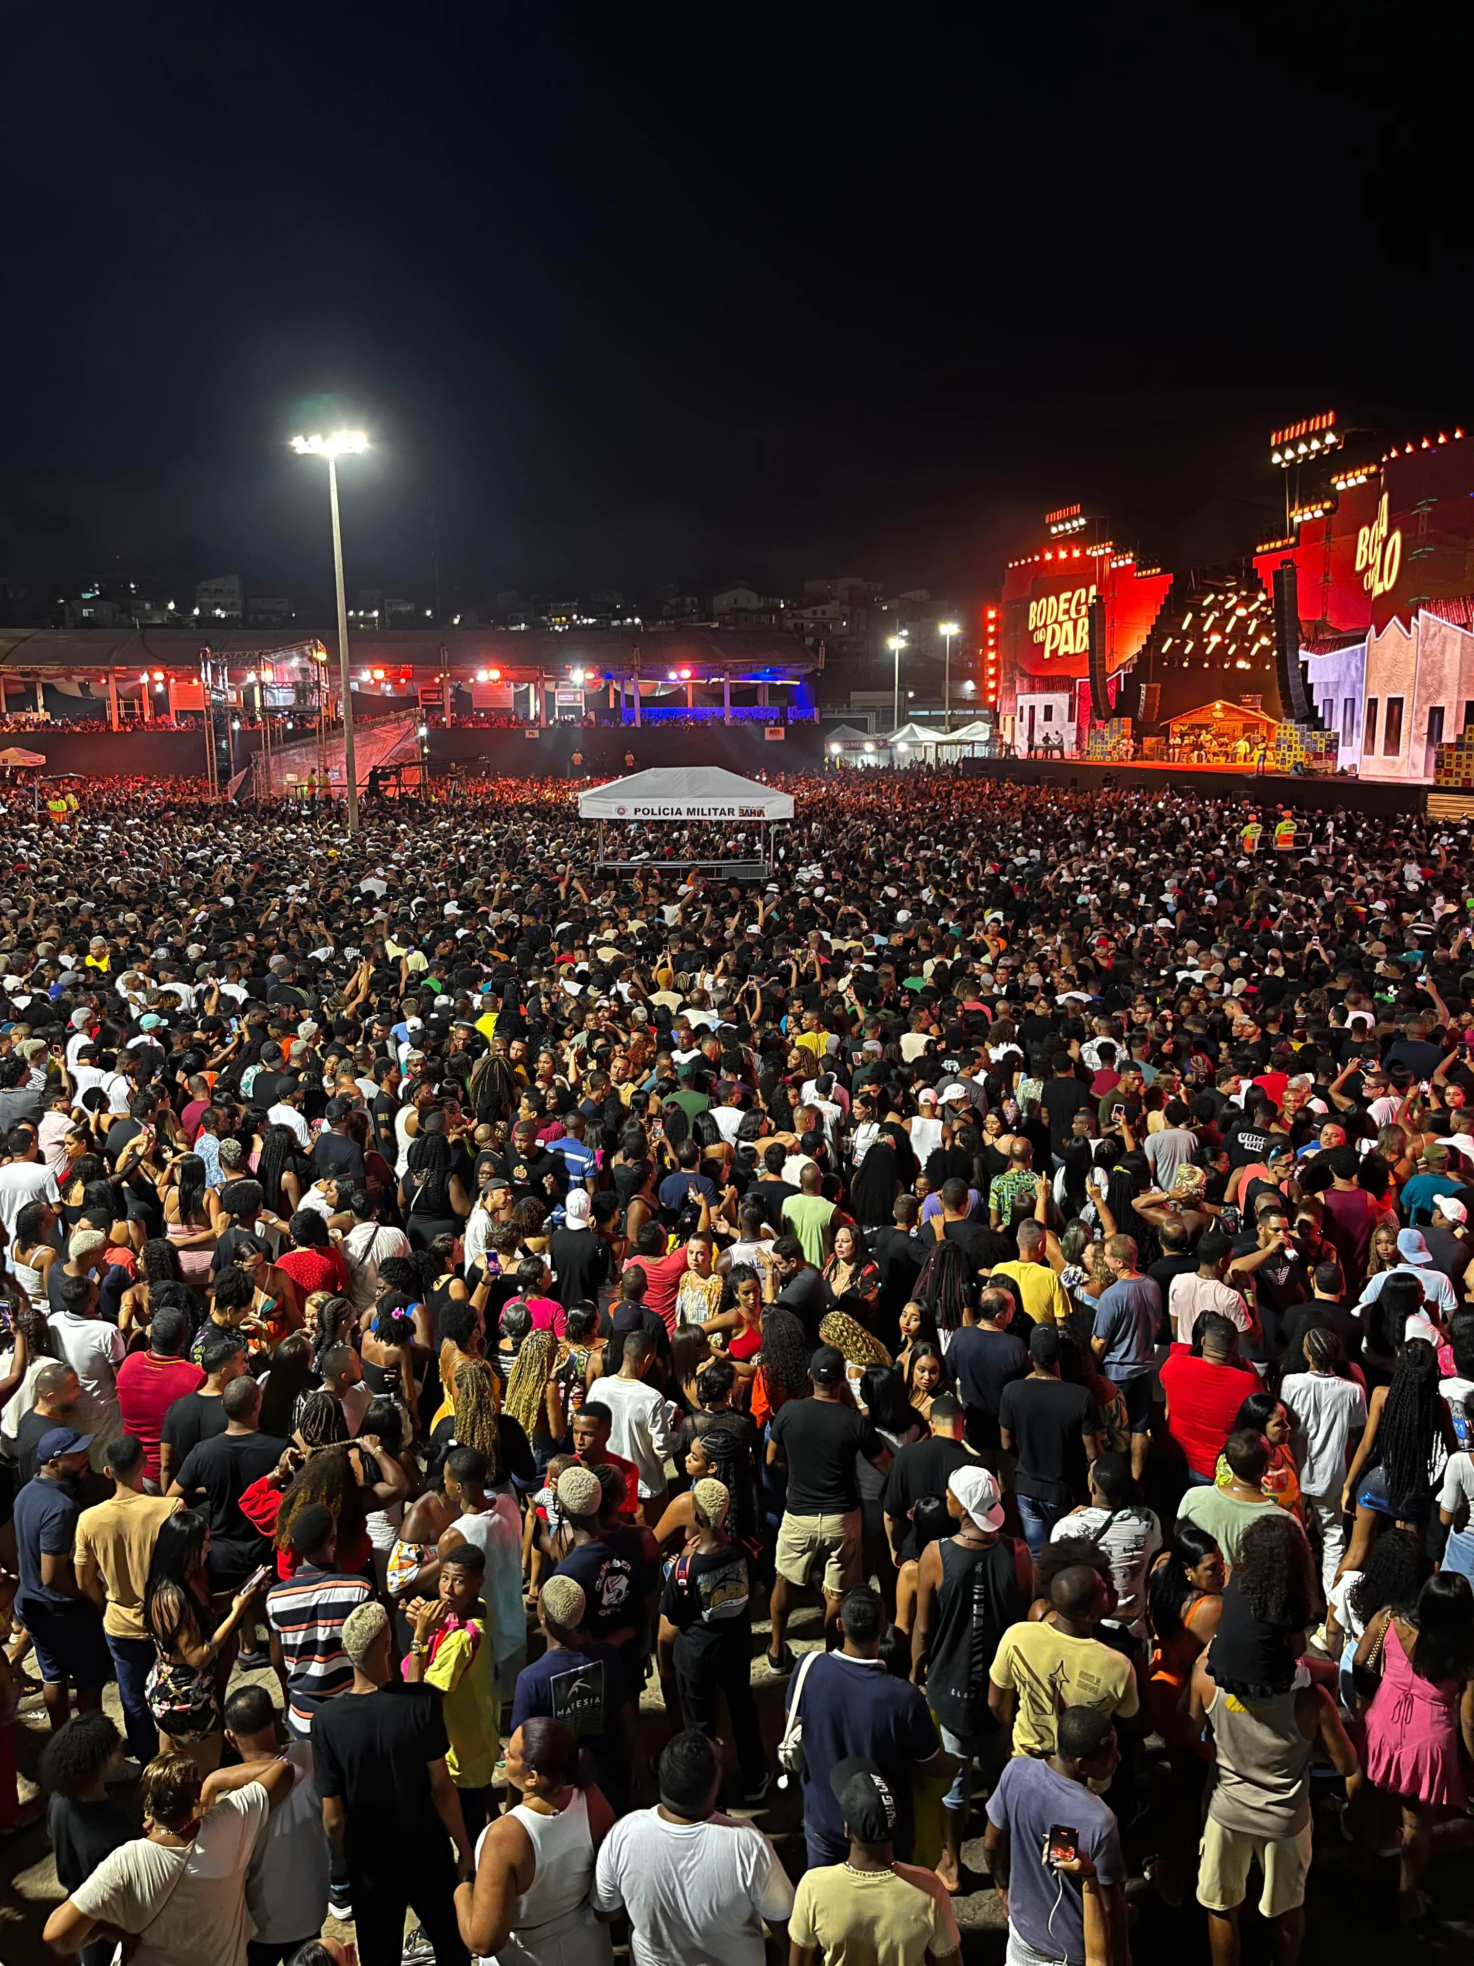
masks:
[[[989,1469],[969,1465],[951,1471],[947,1514],[957,1524],[955,1535],[928,1543],[916,1567],[912,1679],[926,1687],[941,1746],[959,1764],[945,1797],[943,1856],[937,1864],[937,1878],[955,1891],[961,1883],[973,1756],[989,1738],[998,1742],[985,1671],[1002,1634],[1028,1612],[1034,1559],[1028,1543],[1002,1533],[1002,1500]]]

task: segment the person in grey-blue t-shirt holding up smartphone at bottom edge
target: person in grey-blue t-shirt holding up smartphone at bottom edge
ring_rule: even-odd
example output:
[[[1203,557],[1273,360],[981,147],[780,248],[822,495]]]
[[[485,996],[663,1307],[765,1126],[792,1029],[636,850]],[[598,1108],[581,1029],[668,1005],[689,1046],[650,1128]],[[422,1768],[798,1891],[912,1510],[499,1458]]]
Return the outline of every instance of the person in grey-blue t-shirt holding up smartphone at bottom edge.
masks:
[[[1093,1791],[1120,1765],[1110,1714],[1067,1706],[1057,1746],[1016,1754],[989,1797],[989,1876],[1008,1919],[1008,1966],[1126,1966],[1120,1828]]]

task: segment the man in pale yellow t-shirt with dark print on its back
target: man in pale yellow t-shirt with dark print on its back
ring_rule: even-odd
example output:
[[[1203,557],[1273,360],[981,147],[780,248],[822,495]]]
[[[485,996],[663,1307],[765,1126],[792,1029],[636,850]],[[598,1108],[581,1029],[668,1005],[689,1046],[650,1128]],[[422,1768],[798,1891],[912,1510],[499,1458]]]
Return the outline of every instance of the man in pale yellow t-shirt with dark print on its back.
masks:
[[[1101,1573],[1073,1563],[1049,1585],[1053,1624],[1010,1624],[989,1667],[989,1706],[1012,1728],[1014,1754],[1053,1754],[1065,1706],[1130,1720],[1136,1671],[1095,1636],[1106,1594]]]

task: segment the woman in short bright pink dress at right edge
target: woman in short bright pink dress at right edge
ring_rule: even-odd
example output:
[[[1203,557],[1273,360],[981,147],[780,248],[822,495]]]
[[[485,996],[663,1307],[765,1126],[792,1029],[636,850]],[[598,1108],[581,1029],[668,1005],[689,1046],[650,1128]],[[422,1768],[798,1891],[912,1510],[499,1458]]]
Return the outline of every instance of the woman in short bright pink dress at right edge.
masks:
[[[1421,1917],[1417,1889],[1435,1824],[1464,1803],[1458,1760],[1474,1756],[1474,1592],[1450,1571],[1429,1577],[1417,1610],[1382,1610],[1356,1648],[1356,1667],[1380,1673],[1366,1710],[1366,1779],[1403,1813],[1399,1911]]]

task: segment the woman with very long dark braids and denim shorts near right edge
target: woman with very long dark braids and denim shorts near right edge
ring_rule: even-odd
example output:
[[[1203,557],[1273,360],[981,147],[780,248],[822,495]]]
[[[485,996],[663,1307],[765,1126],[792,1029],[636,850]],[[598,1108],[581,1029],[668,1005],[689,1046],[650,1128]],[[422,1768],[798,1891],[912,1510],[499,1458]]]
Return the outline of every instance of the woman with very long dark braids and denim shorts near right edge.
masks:
[[[1342,1516],[1356,1510],[1340,1571],[1366,1567],[1372,1539],[1386,1522],[1427,1526],[1439,1439],[1446,1453],[1456,1451],[1448,1402],[1439,1392],[1439,1355],[1423,1339],[1409,1339],[1397,1353],[1391,1382],[1372,1394],[1362,1445],[1340,1494]]]

